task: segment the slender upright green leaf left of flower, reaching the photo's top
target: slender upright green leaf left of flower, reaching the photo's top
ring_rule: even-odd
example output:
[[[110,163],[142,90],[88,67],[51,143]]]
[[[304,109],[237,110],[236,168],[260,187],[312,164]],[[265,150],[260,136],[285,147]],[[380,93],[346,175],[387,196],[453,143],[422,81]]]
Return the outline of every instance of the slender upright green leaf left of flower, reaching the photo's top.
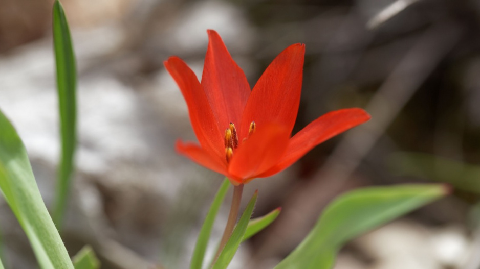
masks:
[[[60,112],[61,157],[53,218],[61,229],[63,212],[67,205],[70,181],[73,173],[76,146],[76,86],[77,71],[69,25],[58,0],[53,4],[53,44],[57,67],[57,90]]]

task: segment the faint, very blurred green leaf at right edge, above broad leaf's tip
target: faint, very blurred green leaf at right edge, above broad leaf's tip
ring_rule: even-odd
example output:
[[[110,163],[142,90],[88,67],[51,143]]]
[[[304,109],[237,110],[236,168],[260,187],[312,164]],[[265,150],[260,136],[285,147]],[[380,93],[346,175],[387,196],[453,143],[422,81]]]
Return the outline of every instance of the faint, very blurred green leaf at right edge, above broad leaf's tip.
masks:
[[[449,183],[457,189],[480,193],[480,166],[424,153],[396,153],[389,167],[403,176]]]

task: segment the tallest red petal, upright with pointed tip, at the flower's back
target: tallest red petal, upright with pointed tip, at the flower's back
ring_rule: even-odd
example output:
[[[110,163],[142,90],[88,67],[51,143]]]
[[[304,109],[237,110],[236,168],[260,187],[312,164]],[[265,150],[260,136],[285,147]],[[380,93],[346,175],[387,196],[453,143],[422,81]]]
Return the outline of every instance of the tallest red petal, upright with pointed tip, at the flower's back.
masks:
[[[220,35],[208,30],[208,38],[202,86],[219,129],[224,130],[230,122],[236,126],[241,124],[250,86],[244,71],[233,61]]]

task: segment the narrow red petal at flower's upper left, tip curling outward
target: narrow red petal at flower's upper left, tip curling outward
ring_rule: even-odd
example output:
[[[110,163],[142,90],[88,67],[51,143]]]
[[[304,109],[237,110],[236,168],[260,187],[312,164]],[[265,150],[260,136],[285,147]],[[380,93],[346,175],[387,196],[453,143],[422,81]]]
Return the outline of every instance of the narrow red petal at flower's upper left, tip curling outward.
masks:
[[[188,106],[193,131],[202,148],[209,154],[221,156],[224,154],[223,136],[197,76],[178,57],[170,57],[168,61],[164,62],[164,65],[182,91]]]

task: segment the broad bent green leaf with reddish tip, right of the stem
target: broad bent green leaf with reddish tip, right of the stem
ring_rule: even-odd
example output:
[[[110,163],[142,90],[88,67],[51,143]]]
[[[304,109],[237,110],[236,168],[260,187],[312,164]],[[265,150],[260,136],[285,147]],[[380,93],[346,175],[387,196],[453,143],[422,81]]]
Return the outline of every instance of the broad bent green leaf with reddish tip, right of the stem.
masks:
[[[334,200],[299,246],[276,269],[329,269],[342,245],[392,219],[439,199],[444,185],[369,187]]]

